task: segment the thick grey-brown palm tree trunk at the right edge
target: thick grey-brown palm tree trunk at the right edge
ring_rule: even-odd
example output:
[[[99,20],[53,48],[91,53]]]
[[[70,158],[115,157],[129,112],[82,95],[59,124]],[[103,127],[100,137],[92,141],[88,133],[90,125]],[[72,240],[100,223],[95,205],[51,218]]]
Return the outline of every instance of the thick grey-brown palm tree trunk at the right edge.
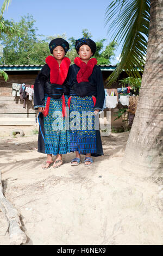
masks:
[[[163,170],[163,0],[151,0],[147,59],[122,166],[145,176]],[[162,175],[163,176],[163,175]]]

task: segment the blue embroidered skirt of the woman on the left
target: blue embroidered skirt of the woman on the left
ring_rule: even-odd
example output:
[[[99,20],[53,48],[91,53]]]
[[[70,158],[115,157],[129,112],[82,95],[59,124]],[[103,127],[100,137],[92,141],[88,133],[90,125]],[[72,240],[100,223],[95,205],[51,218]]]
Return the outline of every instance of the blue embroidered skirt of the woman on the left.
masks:
[[[45,96],[46,106],[47,96]],[[68,97],[65,95],[67,106]],[[43,118],[45,130],[45,154],[66,154],[70,152],[70,132],[65,130],[65,118],[62,118],[62,99],[51,97],[49,113]]]

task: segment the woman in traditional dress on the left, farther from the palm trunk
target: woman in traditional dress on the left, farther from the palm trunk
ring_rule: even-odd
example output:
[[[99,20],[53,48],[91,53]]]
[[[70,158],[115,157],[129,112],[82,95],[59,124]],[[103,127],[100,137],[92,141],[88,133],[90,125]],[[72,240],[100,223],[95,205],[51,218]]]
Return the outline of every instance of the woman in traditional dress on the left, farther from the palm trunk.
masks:
[[[62,154],[70,152],[69,139],[65,129],[66,106],[69,86],[66,82],[70,59],[65,57],[69,44],[65,39],[56,38],[49,43],[53,56],[46,58],[34,83],[34,108],[39,109],[38,152],[47,154],[42,168],[60,167]],[[56,156],[53,163],[52,156]]]

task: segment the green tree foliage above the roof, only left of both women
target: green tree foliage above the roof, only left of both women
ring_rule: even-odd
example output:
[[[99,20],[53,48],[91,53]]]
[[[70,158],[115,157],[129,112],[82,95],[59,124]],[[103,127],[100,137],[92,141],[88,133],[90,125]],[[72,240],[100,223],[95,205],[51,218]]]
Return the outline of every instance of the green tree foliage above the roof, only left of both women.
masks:
[[[48,42],[38,39],[32,15],[22,17],[20,22],[7,20],[5,23],[13,26],[18,35],[8,36],[2,33],[4,48],[1,64],[44,64],[45,57],[49,54]]]

